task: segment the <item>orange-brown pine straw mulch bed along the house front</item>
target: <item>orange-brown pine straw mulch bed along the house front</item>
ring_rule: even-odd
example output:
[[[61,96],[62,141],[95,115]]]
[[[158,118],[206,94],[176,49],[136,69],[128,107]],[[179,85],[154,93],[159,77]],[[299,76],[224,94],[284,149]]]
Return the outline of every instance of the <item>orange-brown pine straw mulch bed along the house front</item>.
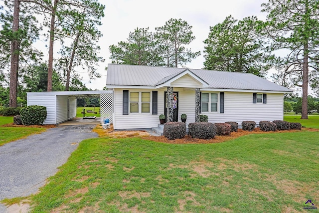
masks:
[[[304,131],[314,131],[319,132],[319,129],[313,129],[313,128],[303,128]],[[300,130],[281,130],[276,132],[299,132]],[[133,138],[133,137],[140,137],[145,140],[150,141],[156,141],[156,142],[162,142],[162,143],[168,143],[168,144],[211,144],[211,143],[221,143],[225,141],[229,141],[244,135],[250,135],[250,134],[269,134],[274,132],[264,132],[261,131],[259,128],[255,128],[254,131],[244,131],[242,129],[238,129],[237,132],[231,132],[230,135],[225,136],[215,136],[213,139],[197,139],[197,138],[191,138],[190,136],[186,135],[184,138],[181,139],[174,139],[169,140],[164,136],[150,136],[150,134],[147,131],[138,130],[138,131],[114,131],[113,125],[111,124],[111,128],[109,129],[103,129],[100,125],[97,125],[95,129],[93,129],[93,132],[96,132],[99,134],[100,137],[107,137],[107,138]]]

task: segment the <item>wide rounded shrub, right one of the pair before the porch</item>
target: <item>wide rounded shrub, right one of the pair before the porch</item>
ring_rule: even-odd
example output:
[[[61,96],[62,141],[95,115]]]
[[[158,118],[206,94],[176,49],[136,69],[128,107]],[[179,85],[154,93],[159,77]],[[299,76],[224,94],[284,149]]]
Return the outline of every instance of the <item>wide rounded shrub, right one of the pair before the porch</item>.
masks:
[[[192,138],[211,139],[216,135],[216,126],[208,122],[189,123],[188,134]]]

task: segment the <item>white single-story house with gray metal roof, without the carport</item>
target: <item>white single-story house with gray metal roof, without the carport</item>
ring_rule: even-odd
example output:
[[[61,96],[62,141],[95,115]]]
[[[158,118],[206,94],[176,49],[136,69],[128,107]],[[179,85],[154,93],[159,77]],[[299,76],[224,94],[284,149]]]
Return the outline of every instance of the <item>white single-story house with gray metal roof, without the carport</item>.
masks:
[[[291,89],[250,73],[108,64],[106,87],[113,90],[113,126],[145,129],[167,121],[187,123],[283,120],[284,94]]]

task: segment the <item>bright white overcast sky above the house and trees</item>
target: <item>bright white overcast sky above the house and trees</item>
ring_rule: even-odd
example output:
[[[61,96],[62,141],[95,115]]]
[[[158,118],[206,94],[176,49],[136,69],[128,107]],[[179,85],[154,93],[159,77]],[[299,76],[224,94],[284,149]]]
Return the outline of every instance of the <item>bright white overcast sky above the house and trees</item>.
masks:
[[[261,12],[261,4],[268,0],[99,0],[106,6],[102,26],[103,37],[100,38],[100,55],[105,62],[100,63],[98,72],[102,75],[97,80],[91,80],[86,74],[83,83],[90,89],[102,90],[106,84],[107,71],[105,67],[111,63],[109,46],[126,41],[129,33],[137,27],[149,27],[155,32],[155,27],[163,26],[170,18],[181,18],[192,26],[195,39],[186,46],[192,51],[201,51],[201,55],[185,66],[192,69],[202,69],[204,62],[204,43],[208,37],[209,27],[222,22],[228,15],[235,19],[243,19],[255,15],[265,20],[266,13]],[[81,70],[81,72],[83,72]]]

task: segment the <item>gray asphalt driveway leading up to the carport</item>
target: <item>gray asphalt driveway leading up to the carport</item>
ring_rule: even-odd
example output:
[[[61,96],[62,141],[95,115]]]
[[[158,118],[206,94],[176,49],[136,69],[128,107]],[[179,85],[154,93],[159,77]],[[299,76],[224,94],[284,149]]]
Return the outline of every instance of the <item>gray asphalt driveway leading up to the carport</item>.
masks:
[[[37,192],[79,143],[98,137],[95,125],[58,126],[0,147],[0,200]],[[5,212],[0,204],[0,212]]]

